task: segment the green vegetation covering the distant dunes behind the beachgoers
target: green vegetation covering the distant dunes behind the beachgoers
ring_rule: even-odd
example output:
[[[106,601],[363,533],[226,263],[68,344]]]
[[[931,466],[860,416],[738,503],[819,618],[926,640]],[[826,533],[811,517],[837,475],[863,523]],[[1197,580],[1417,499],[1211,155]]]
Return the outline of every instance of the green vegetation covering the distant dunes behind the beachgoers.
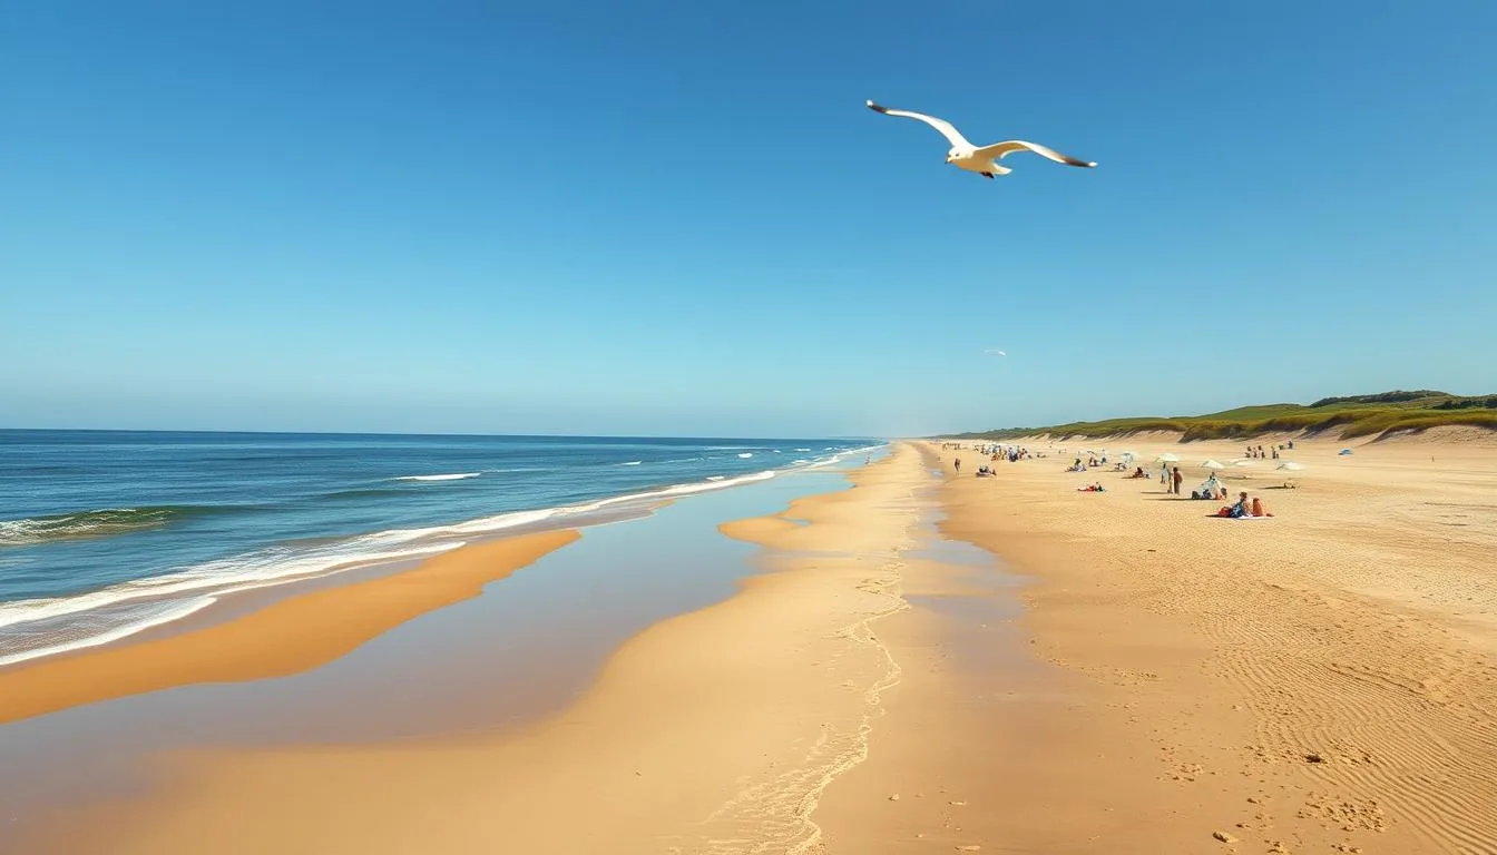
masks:
[[[1497,430],[1497,395],[1463,397],[1419,389],[1377,395],[1322,398],[1305,404],[1259,404],[1202,416],[1141,416],[1049,427],[1004,428],[957,434],[958,439],[1013,439],[1021,436],[1126,436],[1174,431],[1181,442],[1196,439],[1251,439],[1266,433],[1319,434],[1340,439],[1422,431],[1431,427],[1472,425]]]

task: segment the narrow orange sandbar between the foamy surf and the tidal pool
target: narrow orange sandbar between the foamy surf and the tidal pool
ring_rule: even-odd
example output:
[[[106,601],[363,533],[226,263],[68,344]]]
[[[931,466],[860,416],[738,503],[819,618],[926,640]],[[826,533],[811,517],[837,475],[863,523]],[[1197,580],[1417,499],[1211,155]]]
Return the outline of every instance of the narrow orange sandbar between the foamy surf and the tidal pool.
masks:
[[[428,611],[478,596],[573,530],[521,535],[427,559],[412,570],[275,602],[238,620],[0,671],[0,723],[192,683],[310,671]]]

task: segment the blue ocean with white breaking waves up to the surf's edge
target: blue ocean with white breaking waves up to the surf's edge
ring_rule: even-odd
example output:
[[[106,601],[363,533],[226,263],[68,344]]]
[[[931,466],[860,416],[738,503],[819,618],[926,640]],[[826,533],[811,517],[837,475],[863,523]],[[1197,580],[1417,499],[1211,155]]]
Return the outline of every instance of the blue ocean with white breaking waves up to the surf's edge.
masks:
[[[0,431],[0,665],[868,442]]]

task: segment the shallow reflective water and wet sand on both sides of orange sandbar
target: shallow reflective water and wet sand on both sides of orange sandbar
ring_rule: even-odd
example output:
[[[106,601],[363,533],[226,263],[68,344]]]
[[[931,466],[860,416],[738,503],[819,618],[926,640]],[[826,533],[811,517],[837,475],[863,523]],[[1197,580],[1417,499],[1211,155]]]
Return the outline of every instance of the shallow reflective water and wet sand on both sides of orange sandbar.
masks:
[[[180,686],[3,725],[0,816],[10,822],[0,824],[0,852],[45,830],[46,815],[150,795],[159,758],[231,746],[493,735],[554,716],[632,635],[732,596],[735,581],[754,572],[754,548],[719,535],[722,521],[847,487],[837,467],[822,467],[657,503],[645,515],[579,527],[579,541],[487,585],[482,596],[422,614],[311,671]],[[251,591],[205,609],[219,614],[199,626],[413,565]],[[174,629],[162,636],[198,626]],[[121,645],[148,641],[145,635]]]

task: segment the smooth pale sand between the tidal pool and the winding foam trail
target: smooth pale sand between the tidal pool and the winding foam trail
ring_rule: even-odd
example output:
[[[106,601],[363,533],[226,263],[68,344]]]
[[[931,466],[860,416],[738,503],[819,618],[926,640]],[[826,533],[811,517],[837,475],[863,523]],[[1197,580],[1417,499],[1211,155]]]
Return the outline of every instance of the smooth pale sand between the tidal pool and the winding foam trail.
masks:
[[[864,692],[888,678],[859,627],[891,608],[870,584],[897,582],[910,518],[871,502],[906,493],[909,454],[897,476],[891,455],[846,473],[850,490],[780,505],[771,515],[805,520],[789,535],[819,545],[813,559],[756,551],[760,572],[734,596],[638,632],[554,716],[494,734],[177,752],[151,764],[150,794],[73,807],[27,851],[195,852],[213,839],[223,852],[642,854],[698,851],[760,821],[793,845],[801,797],[856,756]],[[886,523],[870,530],[868,511]],[[232,806],[250,803],[246,830]]]

